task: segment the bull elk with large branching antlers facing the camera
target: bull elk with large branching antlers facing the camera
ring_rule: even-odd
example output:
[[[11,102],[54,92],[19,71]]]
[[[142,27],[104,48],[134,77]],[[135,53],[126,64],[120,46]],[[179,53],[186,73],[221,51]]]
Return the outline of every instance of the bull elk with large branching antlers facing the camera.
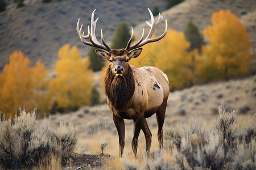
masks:
[[[103,50],[96,49],[95,52],[101,59],[110,62],[106,70],[104,84],[105,94],[108,97],[108,105],[113,113],[114,124],[119,136],[119,156],[122,157],[123,147],[125,146],[125,122],[123,119],[134,121],[134,135],[131,142],[134,156],[137,154],[139,132],[143,131],[146,138],[146,151],[150,153],[151,131],[148,128],[146,118],[156,113],[158,123],[158,142],[159,147],[163,147],[163,123],[166,112],[167,99],[170,92],[169,82],[166,74],[156,67],[144,66],[137,68],[129,65],[130,59],[137,58],[142,52],[141,46],[162,39],[167,32],[167,20],[164,33],[152,39],[155,28],[163,20],[159,13],[159,19],[155,23],[154,16],[150,9],[151,24],[150,31],[146,38],[144,37],[144,28],[141,39],[134,45],[133,27],[131,27],[131,37],[125,49],[111,49],[103,38],[101,29],[102,44],[98,42],[95,35],[95,28],[98,18],[94,21],[94,10],[92,12],[91,26],[88,25],[88,35],[82,33],[82,25],[79,28],[80,19],[77,22],[77,34],[84,44],[94,46]],[[86,41],[89,39],[89,41]]]

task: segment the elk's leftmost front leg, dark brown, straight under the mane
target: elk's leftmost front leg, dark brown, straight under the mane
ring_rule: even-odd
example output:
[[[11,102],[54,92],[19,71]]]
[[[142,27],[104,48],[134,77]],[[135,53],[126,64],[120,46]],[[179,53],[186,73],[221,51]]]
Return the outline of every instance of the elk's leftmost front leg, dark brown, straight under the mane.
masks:
[[[125,147],[125,122],[123,118],[119,118],[113,113],[113,120],[119,137],[119,156],[123,155],[123,147]]]

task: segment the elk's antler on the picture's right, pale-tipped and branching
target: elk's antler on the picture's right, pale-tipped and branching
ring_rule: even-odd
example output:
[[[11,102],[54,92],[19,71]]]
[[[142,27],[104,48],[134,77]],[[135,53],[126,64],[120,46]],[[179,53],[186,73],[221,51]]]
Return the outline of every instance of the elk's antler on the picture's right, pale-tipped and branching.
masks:
[[[163,16],[161,16],[161,14],[159,13],[158,22],[155,23],[155,19],[154,19],[154,16],[153,16],[152,12],[150,11],[149,8],[147,8],[147,9],[150,12],[150,17],[151,17],[151,24],[146,21],[146,23],[150,26],[150,32],[148,32],[148,35],[147,35],[146,39],[143,40],[143,36],[144,36],[144,28],[143,28],[141,39],[139,39],[139,41],[136,42],[134,45],[130,46],[131,40],[133,40],[133,27],[131,27],[131,38],[128,41],[128,43],[126,45],[126,48],[125,48],[128,52],[130,52],[130,50],[139,48],[139,47],[141,47],[141,46],[143,46],[143,45],[145,45],[149,42],[155,42],[155,41],[161,40],[166,35],[167,27],[168,27],[167,19],[166,19],[166,29],[164,30],[164,33],[161,36],[156,37],[155,39],[151,39],[151,37],[152,37],[152,35],[155,31],[155,28],[158,27],[160,22],[163,20]]]

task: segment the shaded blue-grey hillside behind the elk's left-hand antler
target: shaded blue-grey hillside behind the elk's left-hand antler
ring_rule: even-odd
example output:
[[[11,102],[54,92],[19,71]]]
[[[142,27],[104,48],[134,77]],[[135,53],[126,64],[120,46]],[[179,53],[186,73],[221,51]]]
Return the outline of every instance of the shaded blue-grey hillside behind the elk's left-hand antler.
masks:
[[[67,43],[79,46],[80,53],[85,56],[89,48],[77,36],[76,23],[80,18],[86,33],[95,8],[95,19],[100,17],[96,34],[100,36],[102,28],[106,41],[112,40],[118,23],[125,21],[129,27],[134,27],[147,20],[147,7],[152,9],[157,5],[160,11],[166,8],[165,0],[63,0],[50,3],[29,0],[24,3],[22,8],[11,3],[6,11],[0,12],[0,70],[15,50],[22,50],[32,63],[40,59],[48,68],[55,65],[58,50]]]

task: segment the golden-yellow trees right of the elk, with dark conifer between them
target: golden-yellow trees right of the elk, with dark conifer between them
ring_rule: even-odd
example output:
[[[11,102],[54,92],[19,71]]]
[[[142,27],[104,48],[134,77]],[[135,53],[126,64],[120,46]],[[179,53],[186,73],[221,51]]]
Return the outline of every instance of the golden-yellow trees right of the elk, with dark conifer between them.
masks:
[[[232,12],[214,12],[212,25],[203,32],[208,44],[192,21],[184,33],[168,29],[163,40],[143,46],[141,57],[130,63],[137,67],[145,61],[150,66],[158,63],[173,89],[248,73],[251,42],[245,27]]]

